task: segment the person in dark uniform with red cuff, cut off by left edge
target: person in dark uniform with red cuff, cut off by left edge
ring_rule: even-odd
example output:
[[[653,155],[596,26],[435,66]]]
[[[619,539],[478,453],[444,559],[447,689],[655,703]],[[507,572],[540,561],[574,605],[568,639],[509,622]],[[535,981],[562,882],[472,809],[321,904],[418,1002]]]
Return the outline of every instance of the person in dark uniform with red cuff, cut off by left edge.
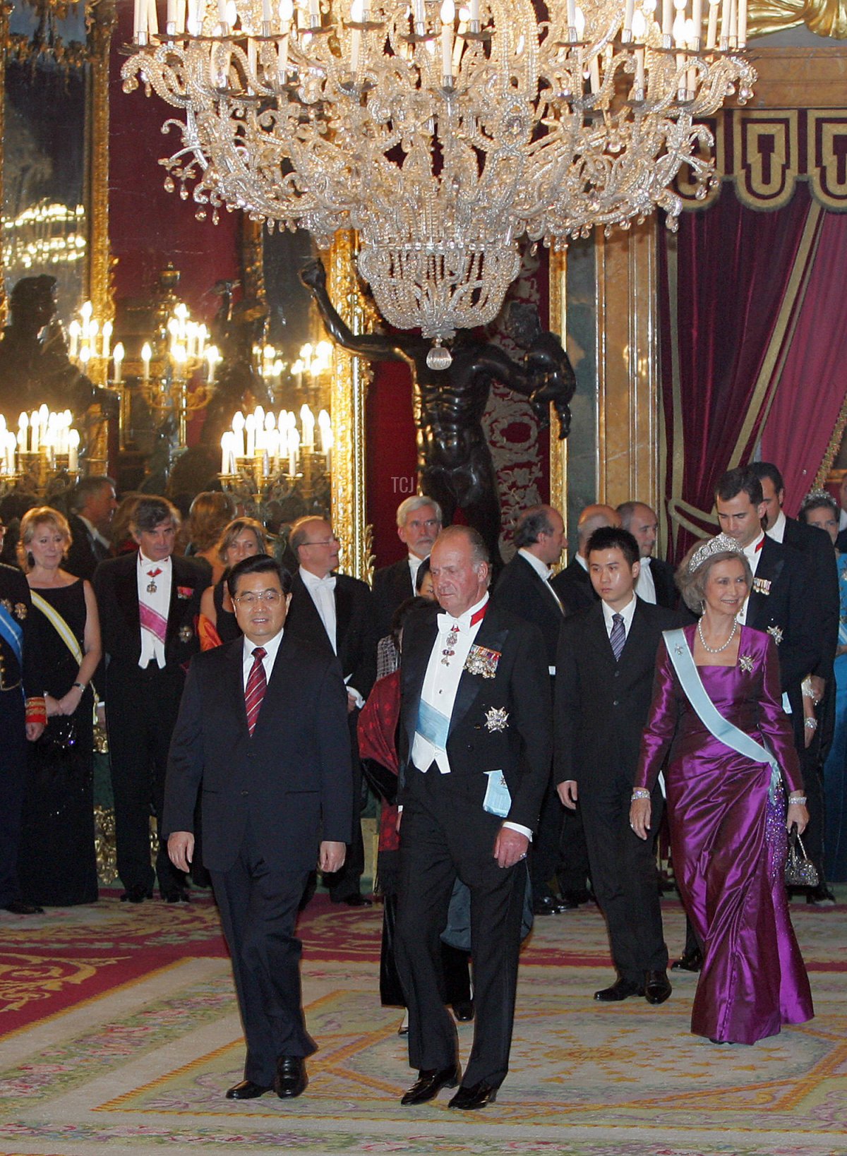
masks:
[[[0,523],[0,544],[5,534]],[[31,614],[27,579],[0,564],[0,907],[15,916],[42,912],[21,895],[17,879],[27,742],[35,742],[46,722],[44,687],[35,681]]]

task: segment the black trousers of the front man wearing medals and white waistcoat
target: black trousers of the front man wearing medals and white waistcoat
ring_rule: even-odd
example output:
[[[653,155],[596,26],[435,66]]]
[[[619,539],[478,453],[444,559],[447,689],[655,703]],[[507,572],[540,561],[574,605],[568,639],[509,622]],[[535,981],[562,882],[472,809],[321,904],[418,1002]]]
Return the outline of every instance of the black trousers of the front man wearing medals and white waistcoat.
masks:
[[[483,785],[434,769],[409,768],[407,776],[414,778],[401,827],[396,961],[409,1008],[409,1064],[447,1068],[458,1060],[440,946],[458,876],[470,890],[476,1009],[463,1083],[498,1087],[508,1070],[526,865],[498,867],[492,852],[503,821],[483,812]]]

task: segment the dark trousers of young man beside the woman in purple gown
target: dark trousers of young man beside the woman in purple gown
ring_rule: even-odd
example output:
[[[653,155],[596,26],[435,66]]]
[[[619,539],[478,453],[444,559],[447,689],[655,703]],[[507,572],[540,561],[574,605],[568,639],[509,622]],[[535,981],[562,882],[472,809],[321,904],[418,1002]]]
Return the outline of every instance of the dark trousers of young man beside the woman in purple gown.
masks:
[[[664,971],[664,946],[659,902],[654,840],[639,839],[630,827],[632,784],[624,777],[580,783],[594,895],[605,917],[611,958],[623,979],[642,984],[645,971]],[[651,825],[659,830],[664,800],[652,795]]]

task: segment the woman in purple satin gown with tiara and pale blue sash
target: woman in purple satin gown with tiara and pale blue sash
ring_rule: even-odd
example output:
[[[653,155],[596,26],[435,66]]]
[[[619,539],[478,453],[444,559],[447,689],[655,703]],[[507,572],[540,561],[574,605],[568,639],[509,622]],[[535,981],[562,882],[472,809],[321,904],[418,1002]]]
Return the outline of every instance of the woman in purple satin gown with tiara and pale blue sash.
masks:
[[[713,736],[674,666],[675,657],[683,661],[683,639],[668,639],[675,632],[667,631],[656,658],[630,820],[646,838],[649,791],[669,753],[674,870],[704,946],[691,1030],[714,1043],[752,1044],[777,1035],[783,1023],[804,1023],[813,1015],[783,877],[786,828],[796,823],[802,831],[809,816],[782,710],[777,646],[735,617],[750,591],[746,558],[731,539],[719,535],[692,551],[677,580],[690,608],[703,610],[698,624],[678,633],[684,633],[705,695],[725,719],[770,748],[781,777],[770,763],[755,762]],[[676,655],[669,646],[679,647]],[[703,690],[693,688],[694,703]]]

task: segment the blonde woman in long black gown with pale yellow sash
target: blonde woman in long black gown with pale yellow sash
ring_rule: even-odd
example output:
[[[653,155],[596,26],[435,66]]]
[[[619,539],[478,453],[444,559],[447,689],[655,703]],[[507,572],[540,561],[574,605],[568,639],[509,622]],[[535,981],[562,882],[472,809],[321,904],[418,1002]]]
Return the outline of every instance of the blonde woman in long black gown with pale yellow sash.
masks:
[[[69,544],[58,511],[39,506],[24,516],[20,550],[32,591],[31,645],[47,725],[28,744],[18,873],[27,899],[51,907],[97,899],[90,683],[101,657],[99,622],[90,584],[60,566]],[[76,655],[39,608],[42,600],[69,628]]]

